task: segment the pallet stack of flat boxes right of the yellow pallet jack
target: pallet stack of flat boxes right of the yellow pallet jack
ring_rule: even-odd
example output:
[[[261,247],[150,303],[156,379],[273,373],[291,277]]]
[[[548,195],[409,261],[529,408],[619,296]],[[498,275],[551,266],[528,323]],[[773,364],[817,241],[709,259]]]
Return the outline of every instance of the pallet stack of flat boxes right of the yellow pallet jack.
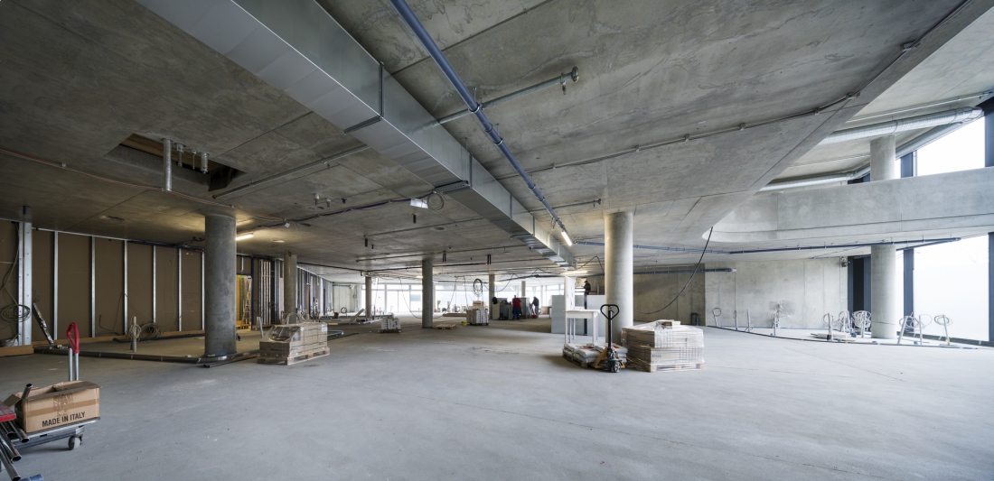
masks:
[[[679,320],[656,320],[621,329],[629,366],[647,372],[704,369],[704,331]]]

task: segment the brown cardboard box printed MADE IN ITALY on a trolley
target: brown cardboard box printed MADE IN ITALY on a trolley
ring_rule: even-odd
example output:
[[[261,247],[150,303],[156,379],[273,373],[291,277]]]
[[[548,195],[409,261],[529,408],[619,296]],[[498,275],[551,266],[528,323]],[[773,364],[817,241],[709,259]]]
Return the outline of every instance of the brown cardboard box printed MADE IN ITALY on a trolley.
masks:
[[[100,417],[100,387],[89,381],[71,381],[35,388],[21,403],[21,393],[4,404],[14,408],[17,421],[27,433]]]

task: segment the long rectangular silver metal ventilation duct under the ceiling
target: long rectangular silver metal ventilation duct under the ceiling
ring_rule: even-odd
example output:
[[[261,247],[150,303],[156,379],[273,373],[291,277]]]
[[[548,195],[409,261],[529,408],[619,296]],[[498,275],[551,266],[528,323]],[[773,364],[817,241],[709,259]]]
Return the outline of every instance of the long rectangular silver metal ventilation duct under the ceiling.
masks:
[[[138,0],[562,267],[573,256],[313,0]],[[416,195],[423,192],[400,192]]]

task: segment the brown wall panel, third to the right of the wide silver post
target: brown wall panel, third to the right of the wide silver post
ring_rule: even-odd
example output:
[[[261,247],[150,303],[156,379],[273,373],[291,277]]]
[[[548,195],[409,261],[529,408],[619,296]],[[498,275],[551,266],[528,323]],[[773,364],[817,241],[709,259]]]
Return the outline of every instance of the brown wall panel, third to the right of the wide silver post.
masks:
[[[124,333],[124,241],[94,239],[96,335]]]

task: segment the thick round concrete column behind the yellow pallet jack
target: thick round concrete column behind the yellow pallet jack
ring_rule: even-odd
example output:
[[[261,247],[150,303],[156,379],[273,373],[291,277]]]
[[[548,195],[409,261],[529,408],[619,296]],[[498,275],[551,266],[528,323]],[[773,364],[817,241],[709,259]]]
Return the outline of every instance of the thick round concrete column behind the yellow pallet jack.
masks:
[[[604,216],[604,297],[617,304],[618,315],[611,324],[611,339],[621,339],[621,329],[634,321],[632,227],[634,213],[614,212]],[[571,293],[573,294],[573,293]]]

